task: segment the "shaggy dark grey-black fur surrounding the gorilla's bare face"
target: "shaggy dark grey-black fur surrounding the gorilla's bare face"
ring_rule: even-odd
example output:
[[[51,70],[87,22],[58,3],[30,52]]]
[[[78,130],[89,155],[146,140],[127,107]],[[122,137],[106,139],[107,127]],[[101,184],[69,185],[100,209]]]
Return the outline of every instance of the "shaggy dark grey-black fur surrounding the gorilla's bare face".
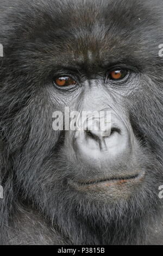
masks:
[[[0,4],[1,243],[163,244],[158,197],[163,184],[162,0]],[[60,49],[69,59],[73,48],[80,53],[95,45],[108,49],[104,61],[121,56],[120,62],[133,63],[140,77],[128,103],[147,159],[146,181],[143,190],[114,207],[64,191],[71,169],[66,156],[60,159],[62,139],[52,130],[58,103],[47,92]]]

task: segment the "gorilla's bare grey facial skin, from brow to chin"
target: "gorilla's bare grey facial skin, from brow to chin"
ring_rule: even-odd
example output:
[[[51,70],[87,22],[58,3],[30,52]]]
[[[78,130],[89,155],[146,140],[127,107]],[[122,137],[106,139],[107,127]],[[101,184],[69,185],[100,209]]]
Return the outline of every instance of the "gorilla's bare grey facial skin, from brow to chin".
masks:
[[[77,56],[79,54],[80,52]],[[111,127],[108,123],[105,128],[106,131],[111,131],[105,134],[98,126],[102,121],[101,117],[96,118],[96,125],[99,127],[97,131],[95,127],[90,127],[90,114],[87,123],[84,120],[84,131],[64,133],[60,148],[57,149],[57,166],[60,162],[62,173],[65,171],[65,188],[68,191],[78,192],[87,200],[115,203],[122,198],[129,198],[131,194],[143,188],[145,173],[149,168],[148,154],[141,147],[141,142],[135,136],[130,122],[130,101],[135,90],[139,90],[142,81],[132,66],[127,68],[123,64],[118,64],[108,70],[108,64],[100,68],[102,64],[98,62],[98,68],[96,60],[90,58],[86,55],[89,65],[96,68],[96,74],[93,74],[92,68],[88,74],[88,70],[85,71],[85,75],[80,68],[80,72],[84,74],[80,75],[74,61],[73,73],[67,67],[57,76],[59,78],[54,78],[49,96],[54,104],[58,99],[57,107],[60,111],[67,106],[70,112],[110,111]],[[116,72],[120,73],[120,78],[110,77],[110,74]],[[121,78],[124,73],[126,76]],[[57,82],[59,79],[65,81],[66,74],[71,79],[74,77],[74,83],[58,88]]]

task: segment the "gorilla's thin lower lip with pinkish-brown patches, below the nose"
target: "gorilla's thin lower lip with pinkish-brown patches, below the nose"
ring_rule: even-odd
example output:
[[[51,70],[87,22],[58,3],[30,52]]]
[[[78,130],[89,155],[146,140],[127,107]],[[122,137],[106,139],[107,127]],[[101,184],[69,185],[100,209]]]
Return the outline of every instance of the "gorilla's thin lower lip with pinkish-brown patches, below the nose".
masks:
[[[122,186],[127,186],[127,185],[136,185],[139,184],[145,177],[145,172],[141,171],[137,176],[134,178],[126,178],[126,179],[111,179],[111,180],[104,180],[104,181],[95,181],[95,182],[90,182],[84,184],[84,182],[76,182],[73,180],[69,180],[68,184],[71,187],[76,188],[77,190],[80,191],[85,191],[85,190],[98,190],[98,189],[106,189],[107,187],[122,187]]]

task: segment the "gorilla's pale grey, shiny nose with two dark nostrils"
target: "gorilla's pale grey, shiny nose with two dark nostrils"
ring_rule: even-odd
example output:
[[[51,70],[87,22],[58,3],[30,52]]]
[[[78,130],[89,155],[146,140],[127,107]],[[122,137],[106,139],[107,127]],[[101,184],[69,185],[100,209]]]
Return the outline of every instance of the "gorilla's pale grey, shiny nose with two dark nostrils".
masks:
[[[87,120],[84,130],[75,133],[74,149],[81,159],[104,163],[129,154],[131,138],[126,125],[116,117],[102,123],[100,119],[93,124]]]

